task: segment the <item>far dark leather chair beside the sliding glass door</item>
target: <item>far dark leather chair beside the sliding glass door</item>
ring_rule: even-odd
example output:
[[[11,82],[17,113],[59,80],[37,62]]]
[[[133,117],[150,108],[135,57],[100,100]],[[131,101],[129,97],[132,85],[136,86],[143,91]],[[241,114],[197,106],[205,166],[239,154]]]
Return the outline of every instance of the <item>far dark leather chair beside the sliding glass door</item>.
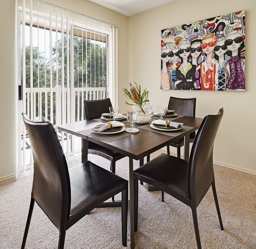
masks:
[[[100,100],[84,100],[84,115],[85,120],[99,119],[102,113],[109,113],[109,108],[112,103],[110,98]],[[88,142],[88,154],[94,154],[102,156],[105,159],[111,161],[111,172],[116,173],[116,161],[125,157],[124,155],[105,148],[101,145],[97,145],[93,142]]]

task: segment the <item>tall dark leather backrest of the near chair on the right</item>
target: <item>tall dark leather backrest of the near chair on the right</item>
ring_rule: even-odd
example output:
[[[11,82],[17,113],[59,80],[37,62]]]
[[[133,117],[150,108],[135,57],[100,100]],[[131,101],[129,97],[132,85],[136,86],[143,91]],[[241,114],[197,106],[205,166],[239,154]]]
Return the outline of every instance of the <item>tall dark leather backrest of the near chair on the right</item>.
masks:
[[[188,186],[191,202],[198,206],[214,181],[213,145],[223,116],[223,108],[217,115],[207,115],[201,123],[189,157]]]

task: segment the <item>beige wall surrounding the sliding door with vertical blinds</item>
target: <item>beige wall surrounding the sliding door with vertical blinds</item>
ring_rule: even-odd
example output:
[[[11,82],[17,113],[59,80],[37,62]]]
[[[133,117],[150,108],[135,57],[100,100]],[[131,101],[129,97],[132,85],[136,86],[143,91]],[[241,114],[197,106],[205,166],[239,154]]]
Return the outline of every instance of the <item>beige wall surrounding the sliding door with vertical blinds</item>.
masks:
[[[47,2],[119,26],[118,59],[122,63],[118,66],[118,80],[128,81],[128,17],[87,0],[47,0]],[[15,0],[0,1],[0,23],[1,181],[14,177],[15,174]],[[119,88],[119,92],[121,90],[122,88]]]

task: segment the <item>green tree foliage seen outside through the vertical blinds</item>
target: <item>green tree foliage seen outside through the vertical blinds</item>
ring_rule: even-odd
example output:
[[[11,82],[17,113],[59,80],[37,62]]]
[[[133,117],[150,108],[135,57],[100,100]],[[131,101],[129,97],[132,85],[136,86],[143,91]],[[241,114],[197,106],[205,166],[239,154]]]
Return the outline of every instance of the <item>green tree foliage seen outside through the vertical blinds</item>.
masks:
[[[107,60],[106,60],[106,46],[102,46],[102,42],[81,38],[74,36],[74,87],[106,87],[107,85]],[[71,44],[71,43],[69,43]],[[49,49],[49,48],[47,48]],[[71,64],[67,65],[67,38],[64,34],[64,62],[61,63],[61,39],[52,45],[52,87],[61,85],[61,69],[64,68],[64,87],[67,87],[67,67],[70,68]],[[71,48],[69,49],[71,51]],[[30,46],[26,46],[25,55],[26,55],[26,88],[30,88],[30,67],[33,67],[33,87],[50,87],[50,60],[46,58],[45,53],[38,50],[38,47],[34,46],[32,49],[32,64],[30,63]],[[58,58],[58,61],[57,61]],[[71,60],[69,60],[70,63]],[[23,84],[22,79],[22,60],[21,60],[21,84]],[[57,68],[58,68],[58,81],[57,81]],[[71,68],[70,72],[70,82],[71,82]],[[71,84],[70,84],[71,85]],[[75,96],[75,106],[78,106],[78,99],[80,98],[79,106],[81,103],[81,94],[88,96],[89,93],[80,93]],[[45,116],[45,108],[47,108],[48,116],[50,113],[50,93],[42,93],[42,116]],[[59,96],[60,97],[60,96]],[[39,116],[39,107],[40,95],[36,94],[36,108],[34,112],[36,116]],[[47,98],[47,107],[46,105]],[[85,97],[84,97],[85,98]],[[26,103],[28,103],[26,101]],[[56,98],[55,93],[53,93],[53,123],[56,123]],[[66,112],[67,110],[65,110]],[[78,113],[75,113],[75,120],[78,121]],[[81,117],[81,108],[80,108],[80,117]],[[48,118],[46,118],[48,119]]]

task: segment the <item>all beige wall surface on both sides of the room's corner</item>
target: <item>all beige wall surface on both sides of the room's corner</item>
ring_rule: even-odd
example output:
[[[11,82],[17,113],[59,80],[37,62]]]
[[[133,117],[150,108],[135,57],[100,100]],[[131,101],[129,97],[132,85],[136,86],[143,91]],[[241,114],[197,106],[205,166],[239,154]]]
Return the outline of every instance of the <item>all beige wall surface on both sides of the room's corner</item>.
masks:
[[[48,0],[58,6],[119,26],[118,93],[124,103],[122,88],[128,82],[140,83],[150,90],[154,106],[167,104],[169,96],[196,97],[196,115],[204,117],[224,107],[214,159],[217,163],[256,173],[256,57],[255,0],[175,0],[173,3],[131,17],[123,16],[87,0]],[[204,3],[204,5],[202,5]],[[221,6],[221,7],[220,7]],[[235,6],[235,7],[234,7]],[[246,92],[197,92],[160,90],[160,30],[219,14],[246,10]],[[15,0],[0,1],[0,181],[15,174],[15,87],[14,87]],[[3,24],[6,24],[3,25]],[[250,54],[249,52],[250,51]]]

